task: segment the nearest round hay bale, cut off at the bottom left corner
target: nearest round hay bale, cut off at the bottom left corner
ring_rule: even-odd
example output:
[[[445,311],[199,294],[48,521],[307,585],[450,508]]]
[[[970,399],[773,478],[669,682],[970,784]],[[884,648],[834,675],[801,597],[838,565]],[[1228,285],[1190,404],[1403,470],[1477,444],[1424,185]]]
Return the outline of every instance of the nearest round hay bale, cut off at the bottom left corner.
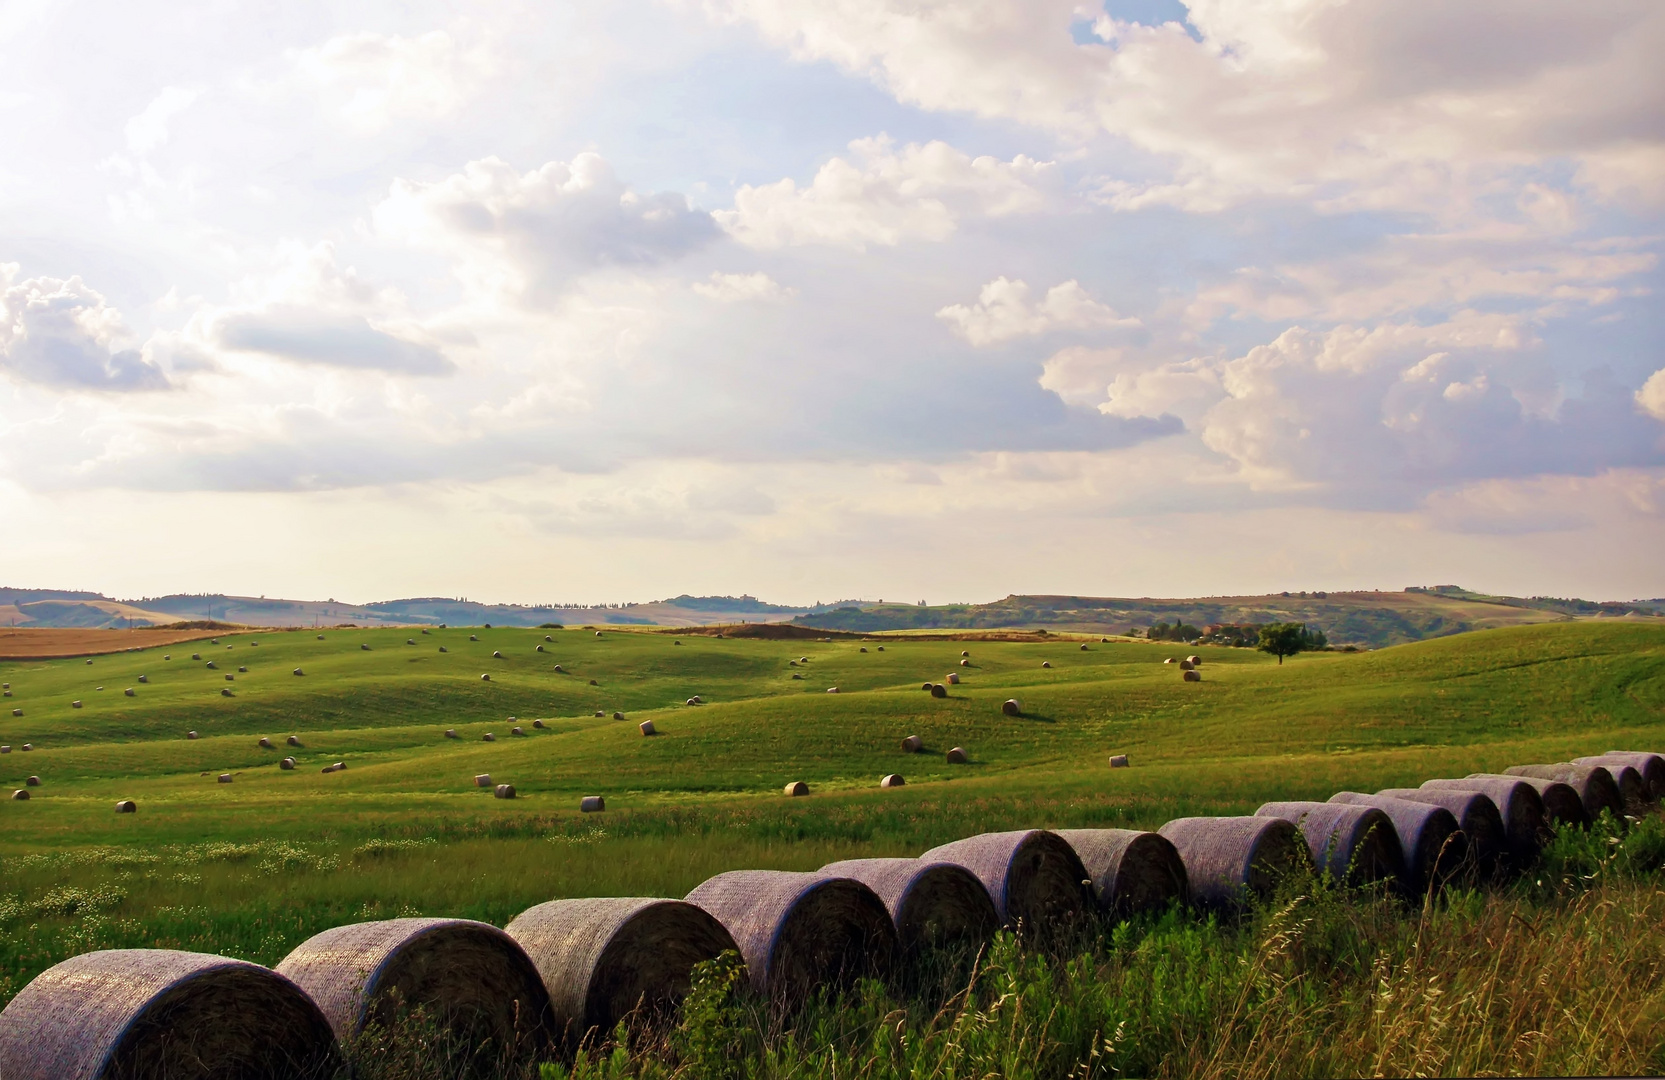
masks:
[[[323,1080],[338,1067],[330,1023],[300,987],[200,952],[87,952],[0,1012],[7,1080]]]

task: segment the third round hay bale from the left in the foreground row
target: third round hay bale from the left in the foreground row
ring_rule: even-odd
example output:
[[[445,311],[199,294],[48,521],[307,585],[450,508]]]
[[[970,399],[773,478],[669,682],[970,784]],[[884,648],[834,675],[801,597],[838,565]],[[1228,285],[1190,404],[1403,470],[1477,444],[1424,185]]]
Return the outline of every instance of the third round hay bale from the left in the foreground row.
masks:
[[[629,1015],[669,1020],[693,969],[739,945],[686,900],[596,897],[529,907],[503,929],[543,977],[568,1045],[606,1035]]]

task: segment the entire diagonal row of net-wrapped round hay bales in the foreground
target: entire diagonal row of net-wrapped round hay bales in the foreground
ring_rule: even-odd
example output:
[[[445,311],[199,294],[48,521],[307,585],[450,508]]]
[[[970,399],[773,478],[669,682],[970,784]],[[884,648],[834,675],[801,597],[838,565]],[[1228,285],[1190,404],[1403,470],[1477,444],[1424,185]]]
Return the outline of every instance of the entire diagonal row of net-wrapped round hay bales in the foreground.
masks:
[[[1522,869],[1547,820],[1573,825],[1615,799],[1650,800],[1665,779],[1658,756],[1603,757],[1269,802],[1254,817],[1187,817],[1157,832],[1031,829],[814,874],[734,870],[686,900],[539,904],[506,930],[460,919],[356,924],[318,934],[275,972],[168,950],[85,954],[0,1013],[0,1077],[326,1075],[340,1043],[401,1010],[475,1045],[573,1045],[626,1015],[668,1013],[693,967],[729,949],[759,993],[791,1003],[882,977],[924,949],[981,945],[999,925],[1052,932],[1092,912],[1127,917],[1185,899],[1232,909],[1310,865],[1415,895],[1470,867]]]

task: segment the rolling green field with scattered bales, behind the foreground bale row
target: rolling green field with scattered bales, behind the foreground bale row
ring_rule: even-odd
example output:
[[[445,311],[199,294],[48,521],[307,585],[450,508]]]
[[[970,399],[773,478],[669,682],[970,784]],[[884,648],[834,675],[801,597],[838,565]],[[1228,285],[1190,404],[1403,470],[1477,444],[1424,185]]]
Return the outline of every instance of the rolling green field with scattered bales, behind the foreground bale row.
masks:
[[[0,804],[0,1003],[87,949],[271,964],[358,919],[501,925],[551,897],[683,895],[726,869],[916,854],[999,827],[1154,827],[1665,746],[1665,632],[1647,624],[1497,629],[1284,666],[1207,649],[1195,684],[1162,664],[1190,649],[1159,644],[879,644],[295,631],[3,662],[0,744],[13,751],[0,789],[42,784]],[[964,682],[947,699],[919,689],[949,671]],[[683,704],[694,694],[706,704]],[[1007,697],[1022,716],[1001,714]],[[661,734],[641,737],[644,719]],[[481,742],[488,731],[496,742]],[[909,734],[929,752],[904,754]],[[947,765],[951,746],[971,764]],[[286,754],[293,772],[278,769]],[[1109,754],[1134,767],[1111,770]],[[320,772],[335,760],[348,767]],[[493,799],[478,772],[519,797]],[[907,787],[879,790],[887,772]],[[813,795],[783,797],[788,780]],[[578,812],[589,794],[606,795],[604,814]],[[113,814],[118,799],[138,812]]]

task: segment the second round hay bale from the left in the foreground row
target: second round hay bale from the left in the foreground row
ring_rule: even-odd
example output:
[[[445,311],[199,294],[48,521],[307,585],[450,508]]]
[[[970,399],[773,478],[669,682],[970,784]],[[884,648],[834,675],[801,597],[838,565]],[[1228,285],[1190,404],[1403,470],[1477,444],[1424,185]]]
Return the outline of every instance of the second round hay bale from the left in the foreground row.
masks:
[[[278,973],[306,990],[335,1028],[356,1037],[421,1012],[451,1035],[513,1047],[541,1035],[549,993],[513,937],[470,919],[388,919],[325,930],[295,949]]]

